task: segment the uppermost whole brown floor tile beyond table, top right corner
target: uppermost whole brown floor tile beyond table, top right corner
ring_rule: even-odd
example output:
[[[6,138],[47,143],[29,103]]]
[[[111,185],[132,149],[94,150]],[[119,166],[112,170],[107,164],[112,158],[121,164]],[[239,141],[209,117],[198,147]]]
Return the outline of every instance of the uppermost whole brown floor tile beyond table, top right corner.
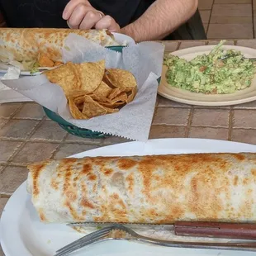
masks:
[[[214,4],[211,16],[252,16],[251,4]]]

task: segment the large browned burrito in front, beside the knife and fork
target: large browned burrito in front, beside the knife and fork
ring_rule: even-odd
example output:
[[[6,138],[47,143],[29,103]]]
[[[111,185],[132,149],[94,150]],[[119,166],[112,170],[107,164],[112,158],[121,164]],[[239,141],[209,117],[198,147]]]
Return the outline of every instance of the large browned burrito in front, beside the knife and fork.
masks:
[[[45,223],[256,220],[256,154],[88,157],[28,169]]]

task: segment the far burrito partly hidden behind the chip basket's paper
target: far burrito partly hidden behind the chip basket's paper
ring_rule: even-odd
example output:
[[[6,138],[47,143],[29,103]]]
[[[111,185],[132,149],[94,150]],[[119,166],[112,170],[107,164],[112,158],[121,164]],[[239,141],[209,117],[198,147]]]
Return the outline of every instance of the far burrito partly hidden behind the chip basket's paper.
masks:
[[[30,71],[58,66],[63,62],[62,48],[70,33],[102,46],[120,45],[107,30],[0,28],[0,62]]]

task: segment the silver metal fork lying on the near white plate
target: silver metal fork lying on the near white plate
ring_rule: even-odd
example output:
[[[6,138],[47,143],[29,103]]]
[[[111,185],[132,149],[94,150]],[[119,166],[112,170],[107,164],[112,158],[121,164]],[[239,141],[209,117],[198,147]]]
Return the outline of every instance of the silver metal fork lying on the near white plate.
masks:
[[[112,230],[125,231],[128,237],[115,238],[109,237]],[[107,237],[108,236],[108,237]],[[182,242],[182,241],[167,241],[160,239],[153,239],[146,237],[144,235],[137,234],[134,230],[127,228],[124,225],[109,225],[101,230],[92,232],[89,235],[85,235],[82,238],[74,241],[71,244],[64,246],[63,248],[57,250],[55,256],[65,256],[73,253],[74,251],[83,248],[84,246],[99,241],[105,241],[109,239],[126,239],[126,240],[136,240],[139,242],[144,242],[147,244],[155,244],[168,247],[178,247],[178,248],[194,248],[194,249],[232,249],[232,250],[247,250],[256,252],[256,243],[207,243],[207,242]]]

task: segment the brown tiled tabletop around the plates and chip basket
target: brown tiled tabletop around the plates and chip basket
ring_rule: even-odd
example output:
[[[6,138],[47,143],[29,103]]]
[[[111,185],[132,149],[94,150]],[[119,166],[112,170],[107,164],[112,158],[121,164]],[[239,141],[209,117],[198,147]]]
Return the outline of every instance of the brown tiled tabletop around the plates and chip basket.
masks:
[[[166,51],[217,41],[165,42]],[[256,49],[256,40],[229,44]],[[233,107],[194,107],[158,97],[150,139],[208,138],[256,144],[256,102]],[[61,159],[88,149],[126,140],[110,137],[82,139],[67,134],[46,118],[34,102],[0,105],[0,214],[7,198],[26,180],[26,165],[44,159]],[[1,249],[0,249],[0,256]]]

